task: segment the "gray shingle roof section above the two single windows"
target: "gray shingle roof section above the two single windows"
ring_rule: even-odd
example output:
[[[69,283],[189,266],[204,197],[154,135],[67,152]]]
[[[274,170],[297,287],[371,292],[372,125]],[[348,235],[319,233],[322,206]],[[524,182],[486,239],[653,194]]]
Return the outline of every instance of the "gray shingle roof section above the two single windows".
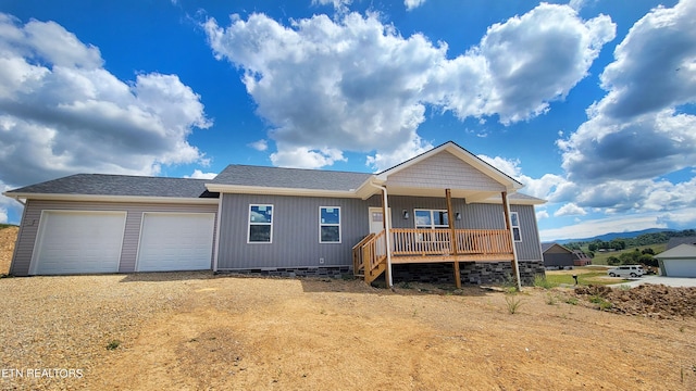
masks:
[[[350,191],[372,174],[231,164],[211,184]]]

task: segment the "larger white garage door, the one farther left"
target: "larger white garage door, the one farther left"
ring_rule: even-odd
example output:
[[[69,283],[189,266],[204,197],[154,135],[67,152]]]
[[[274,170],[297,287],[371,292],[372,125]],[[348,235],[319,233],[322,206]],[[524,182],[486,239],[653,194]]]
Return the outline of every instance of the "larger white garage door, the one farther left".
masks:
[[[116,273],[126,212],[44,211],[30,274]]]

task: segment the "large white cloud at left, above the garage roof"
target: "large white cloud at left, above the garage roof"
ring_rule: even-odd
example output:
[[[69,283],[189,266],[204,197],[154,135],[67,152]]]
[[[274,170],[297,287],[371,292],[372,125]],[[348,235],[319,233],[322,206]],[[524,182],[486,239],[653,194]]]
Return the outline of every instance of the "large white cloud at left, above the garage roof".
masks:
[[[54,22],[0,14],[0,180],[156,175],[162,165],[206,162],[187,137],[211,123],[176,75],[121,80],[97,47]]]

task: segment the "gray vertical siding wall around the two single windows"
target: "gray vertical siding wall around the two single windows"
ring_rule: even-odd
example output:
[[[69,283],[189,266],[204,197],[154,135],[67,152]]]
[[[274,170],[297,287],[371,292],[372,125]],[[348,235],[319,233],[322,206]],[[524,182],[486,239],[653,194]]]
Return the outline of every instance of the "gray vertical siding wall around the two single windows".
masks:
[[[250,204],[273,205],[271,243],[247,243]],[[340,243],[319,242],[320,206],[340,206]],[[349,266],[352,247],[370,230],[365,201],[321,197],[225,193],[220,223],[221,270]]]

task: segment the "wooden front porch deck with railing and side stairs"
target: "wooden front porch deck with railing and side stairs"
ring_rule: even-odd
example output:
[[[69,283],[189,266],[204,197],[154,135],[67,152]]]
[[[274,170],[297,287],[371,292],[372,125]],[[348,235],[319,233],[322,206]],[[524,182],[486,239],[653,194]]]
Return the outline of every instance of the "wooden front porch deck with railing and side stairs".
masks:
[[[512,239],[507,229],[403,229],[389,230],[391,264],[513,262]],[[453,234],[453,235],[452,235]],[[385,231],[370,234],[352,248],[353,274],[374,281],[386,267]],[[459,278],[456,278],[460,286]]]

